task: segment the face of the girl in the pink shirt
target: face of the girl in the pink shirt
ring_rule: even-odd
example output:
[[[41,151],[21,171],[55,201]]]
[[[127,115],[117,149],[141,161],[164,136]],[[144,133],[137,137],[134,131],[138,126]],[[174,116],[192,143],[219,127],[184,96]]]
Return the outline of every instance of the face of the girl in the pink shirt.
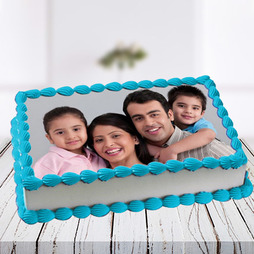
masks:
[[[86,126],[79,117],[66,114],[49,123],[49,134],[46,137],[57,147],[82,154],[83,145],[87,141]]]

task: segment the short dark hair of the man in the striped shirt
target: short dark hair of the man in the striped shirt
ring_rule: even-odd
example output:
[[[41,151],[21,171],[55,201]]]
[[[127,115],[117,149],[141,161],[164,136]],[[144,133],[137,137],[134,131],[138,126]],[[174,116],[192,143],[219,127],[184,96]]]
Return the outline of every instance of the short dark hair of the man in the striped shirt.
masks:
[[[169,106],[166,98],[162,94],[148,89],[139,90],[128,94],[123,102],[123,112],[126,116],[130,117],[127,111],[127,107],[130,103],[133,102],[138,104],[144,104],[149,101],[158,101],[165,110],[165,112],[168,114]]]

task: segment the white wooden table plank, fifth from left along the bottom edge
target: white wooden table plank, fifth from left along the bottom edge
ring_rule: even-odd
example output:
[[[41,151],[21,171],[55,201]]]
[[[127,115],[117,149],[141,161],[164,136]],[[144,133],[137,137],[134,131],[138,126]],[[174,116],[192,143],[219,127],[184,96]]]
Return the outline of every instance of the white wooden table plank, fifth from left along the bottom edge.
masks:
[[[177,208],[147,211],[149,253],[184,253],[184,234]]]

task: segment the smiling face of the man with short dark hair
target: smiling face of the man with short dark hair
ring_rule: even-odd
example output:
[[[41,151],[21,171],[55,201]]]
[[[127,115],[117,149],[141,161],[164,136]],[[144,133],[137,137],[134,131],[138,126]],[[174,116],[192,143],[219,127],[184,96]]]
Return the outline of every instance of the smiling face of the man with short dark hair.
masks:
[[[143,104],[130,103],[127,111],[137,129],[149,144],[162,146],[174,132],[171,121],[173,114],[168,114],[156,100]]]

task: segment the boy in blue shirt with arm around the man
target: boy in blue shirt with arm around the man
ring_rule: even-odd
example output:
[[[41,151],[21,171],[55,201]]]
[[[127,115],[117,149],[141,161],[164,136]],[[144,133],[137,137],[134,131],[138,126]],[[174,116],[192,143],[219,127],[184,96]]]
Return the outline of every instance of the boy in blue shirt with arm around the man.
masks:
[[[177,154],[209,144],[216,137],[213,124],[203,118],[206,110],[206,96],[197,87],[181,85],[168,92],[169,109],[173,112],[173,123],[184,131],[193,133],[155,155],[159,161],[176,159]],[[150,146],[150,151],[154,147]],[[156,148],[155,148],[156,149]]]

